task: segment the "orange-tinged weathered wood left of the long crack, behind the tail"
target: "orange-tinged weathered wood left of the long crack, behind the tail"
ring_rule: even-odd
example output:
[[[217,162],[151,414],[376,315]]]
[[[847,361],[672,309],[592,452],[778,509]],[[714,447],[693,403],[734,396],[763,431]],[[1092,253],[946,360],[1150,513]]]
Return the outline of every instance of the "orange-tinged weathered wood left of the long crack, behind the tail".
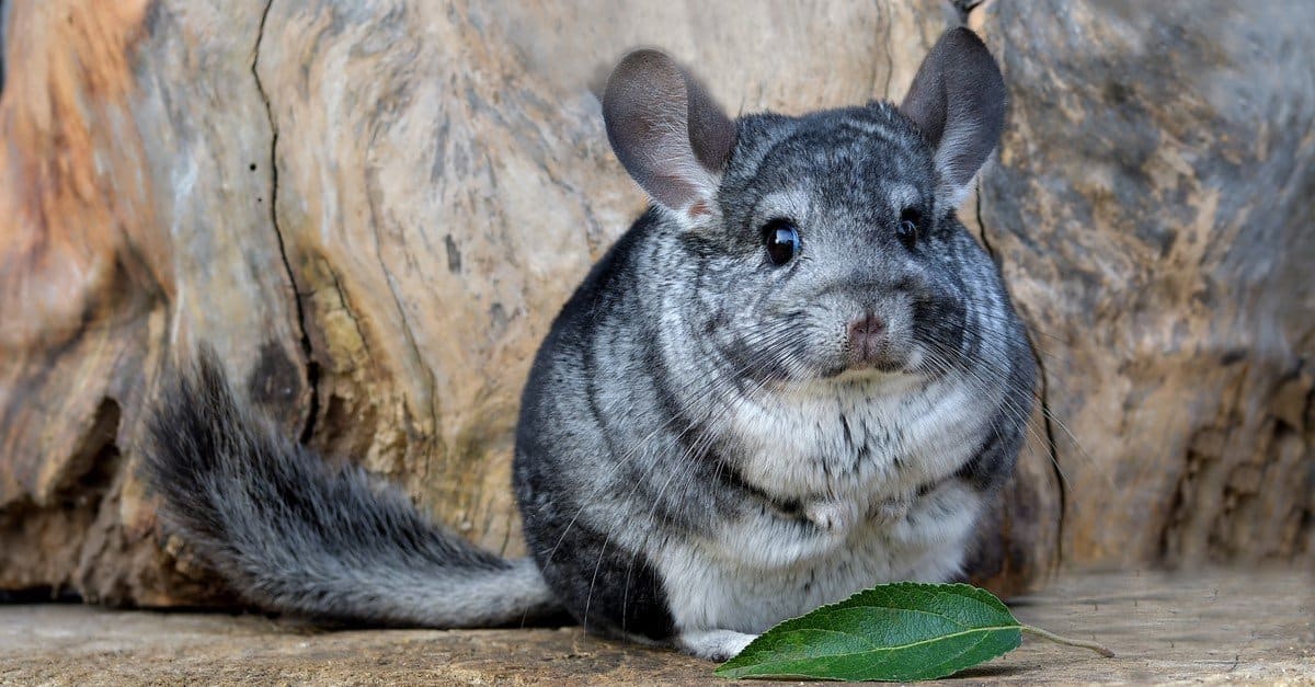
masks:
[[[156,553],[133,469],[143,403],[175,346],[204,337],[259,361],[270,405],[305,412],[250,9],[9,9],[0,587],[145,604],[196,595]]]

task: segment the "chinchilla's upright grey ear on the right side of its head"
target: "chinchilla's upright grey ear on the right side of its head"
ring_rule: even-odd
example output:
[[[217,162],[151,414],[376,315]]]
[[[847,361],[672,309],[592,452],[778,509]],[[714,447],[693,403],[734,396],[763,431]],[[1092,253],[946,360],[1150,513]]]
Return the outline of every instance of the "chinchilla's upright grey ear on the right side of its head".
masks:
[[[955,208],[999,141],[1005,79],[973,32],[945,32],[899,105],[936,147],[936,203]]]

